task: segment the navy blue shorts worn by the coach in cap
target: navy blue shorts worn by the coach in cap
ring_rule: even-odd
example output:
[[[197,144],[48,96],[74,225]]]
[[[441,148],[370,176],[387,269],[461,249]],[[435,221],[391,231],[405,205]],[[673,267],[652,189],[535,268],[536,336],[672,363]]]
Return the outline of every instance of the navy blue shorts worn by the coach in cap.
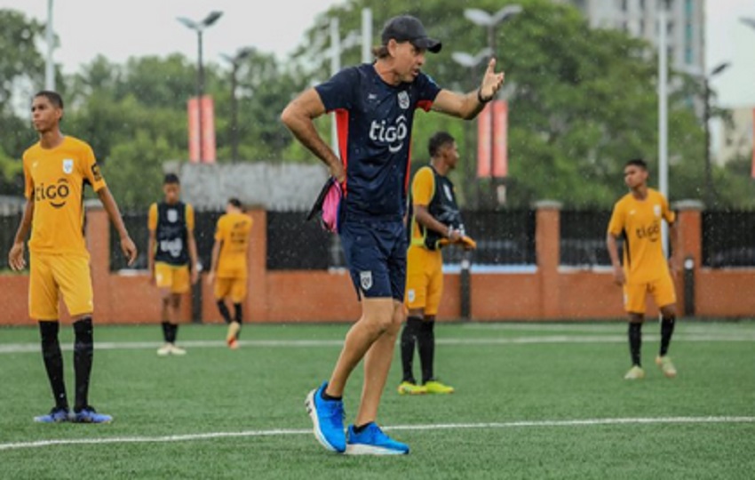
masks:
[[[346,220],[338,233],[357,295],[403,301],[407,251],[403,222]]]

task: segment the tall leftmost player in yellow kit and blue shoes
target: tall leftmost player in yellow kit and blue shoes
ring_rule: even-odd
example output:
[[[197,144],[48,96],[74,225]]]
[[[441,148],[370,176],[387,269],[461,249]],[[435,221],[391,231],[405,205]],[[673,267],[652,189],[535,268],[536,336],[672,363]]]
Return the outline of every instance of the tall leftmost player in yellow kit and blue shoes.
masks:
[[[56,423],[107,423],[110,415],[96,412],[89,404],[89,382],[94,354],[94,310],[89,252],[83,237],[83,187],[97,192],[107,216],[121,239],[121,250],[129,261],[136,260],[136,246],[126,231],[99,172],[91,147],[60,132],[63,100],[51,91],[36,93],[31,105],[32,121],[39,141],[23,155],[27,198],[8,263],[14,270],[26,267],[24,241],[31,229],[29,249],[29,316],[39,323],[42,356],[50,380],[55,406],[35,421]],[[74,324],[74,371],[76,403],[68,410],[68,396],[60,353],[58,302],[62,296]]]

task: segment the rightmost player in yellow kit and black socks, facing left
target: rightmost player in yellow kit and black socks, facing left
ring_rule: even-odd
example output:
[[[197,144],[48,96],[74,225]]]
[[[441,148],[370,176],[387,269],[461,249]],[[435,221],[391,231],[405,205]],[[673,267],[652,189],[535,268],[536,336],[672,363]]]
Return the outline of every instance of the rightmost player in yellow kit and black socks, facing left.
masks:
[[[648,188],[648,164],[644,160],[634,159],[624,165],[624,183],[630,192],[614,205],[606,236],[614,281],[624,288],[624,308],[629,314],[632,368],[626,372],[624,379],[640,380],[645,377],[640,346],[648,294],[653,296],[661,309],[661,349],[656,356],[656,364],[671,379],[677,373],[667,355],[676,321],[676,293],[669,265],[676,273],[679,262],[673,257],[668,263],[664,259],[661,221],[666,220],[669,224],[672,252],[678,254],[676,216],[669,210],[666,198],[653,188]],[[624,238],[624,268],[619,262],[616,246],[616,239],[620,237]]]

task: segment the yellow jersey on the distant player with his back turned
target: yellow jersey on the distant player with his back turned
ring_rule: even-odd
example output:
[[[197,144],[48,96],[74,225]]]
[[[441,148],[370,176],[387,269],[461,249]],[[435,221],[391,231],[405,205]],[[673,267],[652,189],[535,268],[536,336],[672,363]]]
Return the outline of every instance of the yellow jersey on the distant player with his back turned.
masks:
[[[219,278],[246,278],[246,255],[252,220],[244,213],[226,213],[218,219],[215,241],[223,242],[218,258]]]

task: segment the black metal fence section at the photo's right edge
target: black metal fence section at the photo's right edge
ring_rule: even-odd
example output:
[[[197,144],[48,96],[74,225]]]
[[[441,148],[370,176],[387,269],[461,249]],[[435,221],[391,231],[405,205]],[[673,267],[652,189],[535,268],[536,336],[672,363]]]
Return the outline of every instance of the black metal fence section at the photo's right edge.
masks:
[[[701,229],[703,267],[755,267],[755,212],[703,212]]]

